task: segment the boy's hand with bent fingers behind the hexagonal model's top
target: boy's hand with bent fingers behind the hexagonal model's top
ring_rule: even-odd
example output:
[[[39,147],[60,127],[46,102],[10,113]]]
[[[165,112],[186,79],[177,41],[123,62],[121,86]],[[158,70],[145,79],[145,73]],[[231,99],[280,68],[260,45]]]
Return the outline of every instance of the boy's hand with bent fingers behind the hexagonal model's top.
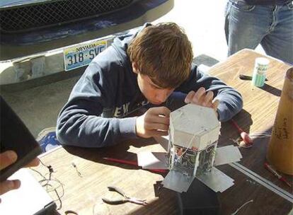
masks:
[[[185,103],[192,103],[195,105],[201,105],[207,108],[213,108],[217,112],[217,108],[219,105],[219,100],[215,100],[212,102],[214,98],[214,93],[212,91],[205,91],[205,88],[201,87],[198,91],[190,91],[188,95],[186,95]]]

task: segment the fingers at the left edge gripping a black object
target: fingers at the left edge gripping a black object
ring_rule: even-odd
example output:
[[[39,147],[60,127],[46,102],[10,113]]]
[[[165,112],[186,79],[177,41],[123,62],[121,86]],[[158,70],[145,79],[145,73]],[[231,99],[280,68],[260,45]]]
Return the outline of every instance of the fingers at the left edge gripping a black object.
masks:
[[[17,154],[14,151],[5,151],[0,153],[0,170],[3,170],[8,165],[13,164],[17,160]],[[36,166],[40,163],[38,158],[33,159],[27,167]],[[0,195],[8,192],[9,190],[18,189],[21,186],[21,182],[19,180],[5,180],[0,182]],[[1,202],[1,199],[0,199]]]

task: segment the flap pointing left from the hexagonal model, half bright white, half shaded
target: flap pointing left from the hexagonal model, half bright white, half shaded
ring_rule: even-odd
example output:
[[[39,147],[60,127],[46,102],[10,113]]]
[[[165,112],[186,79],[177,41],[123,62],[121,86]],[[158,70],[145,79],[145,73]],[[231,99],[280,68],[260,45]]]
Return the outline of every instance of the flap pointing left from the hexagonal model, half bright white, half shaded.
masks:
[[[165,152],[139,152],[137,153],[137,162],[143,169],[168,169]]]

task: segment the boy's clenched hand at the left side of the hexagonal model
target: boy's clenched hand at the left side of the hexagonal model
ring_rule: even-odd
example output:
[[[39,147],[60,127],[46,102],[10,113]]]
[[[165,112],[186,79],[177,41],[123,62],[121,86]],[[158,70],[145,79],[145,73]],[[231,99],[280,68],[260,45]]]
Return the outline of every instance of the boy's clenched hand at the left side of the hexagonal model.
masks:
[[[137,136],[166,136],[170,124],[170,112],[166,107],[150,108],[144,115],[137,117]]]

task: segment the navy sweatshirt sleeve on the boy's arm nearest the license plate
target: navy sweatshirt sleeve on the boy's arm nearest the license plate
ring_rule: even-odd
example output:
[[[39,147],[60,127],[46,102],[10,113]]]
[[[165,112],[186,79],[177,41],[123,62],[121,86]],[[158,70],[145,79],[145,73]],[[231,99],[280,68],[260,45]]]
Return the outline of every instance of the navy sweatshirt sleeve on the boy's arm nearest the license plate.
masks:
[[[103,147],[123,139],[136,138],[135,117],[101,117],[103,107],[115,100],[113,81],[101,76],[97,63],[91,63],[74,86],[69,101],[57,119],[57,138],[63,145]]]

